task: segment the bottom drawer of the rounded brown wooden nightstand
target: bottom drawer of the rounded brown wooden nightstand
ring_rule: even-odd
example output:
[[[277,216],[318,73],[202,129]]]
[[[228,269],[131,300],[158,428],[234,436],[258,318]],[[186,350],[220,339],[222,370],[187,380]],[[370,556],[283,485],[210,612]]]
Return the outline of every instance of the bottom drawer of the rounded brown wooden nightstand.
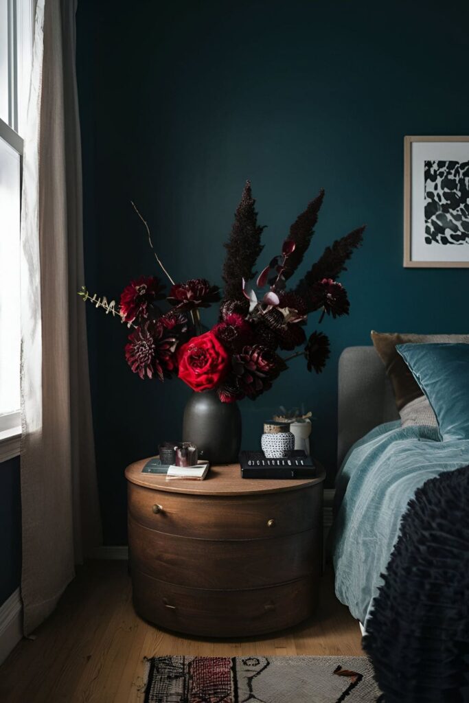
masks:
[[[208,637],[244,637],[281,630],[316,607],[315,576],[281,586],[241,591],[186,588],[132,572],[134,606],[146,620],[170,630]]]

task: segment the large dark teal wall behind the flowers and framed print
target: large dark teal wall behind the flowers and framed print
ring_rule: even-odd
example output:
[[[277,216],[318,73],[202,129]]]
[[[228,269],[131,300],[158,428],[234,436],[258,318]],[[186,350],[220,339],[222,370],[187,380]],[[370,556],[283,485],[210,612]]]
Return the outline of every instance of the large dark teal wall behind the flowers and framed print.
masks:
[[[311,246],[368,224],[342,278],[351,314],[327,322],[326,372],[302,360],[255,404],[245,446],[279,404],[317,417],[316,453],[335,468],[336,367],[371,328],[465,332],[468,271],[402,261],[405,134],[467,134],[463,1],[79,0],[78,71],[85,186],[86,283],[117,297],[155,271],[133,198],[176,279],[221,283],[223,242],[252,181],[266,260],[319,188]],[[311,329],[313,323],[311,322]],[[124,329],[89,310],[94,423],[105,539],[125,539],[124,466],[179,436],[188,389],[142,382],[123,356]]]

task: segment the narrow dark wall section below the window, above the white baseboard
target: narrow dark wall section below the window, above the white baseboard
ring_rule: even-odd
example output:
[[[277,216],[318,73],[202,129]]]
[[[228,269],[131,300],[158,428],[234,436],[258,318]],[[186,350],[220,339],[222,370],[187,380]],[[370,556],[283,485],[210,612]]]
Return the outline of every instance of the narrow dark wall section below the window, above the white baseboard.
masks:
[[[0,463],[0,605],[20,585],[20,458]]]

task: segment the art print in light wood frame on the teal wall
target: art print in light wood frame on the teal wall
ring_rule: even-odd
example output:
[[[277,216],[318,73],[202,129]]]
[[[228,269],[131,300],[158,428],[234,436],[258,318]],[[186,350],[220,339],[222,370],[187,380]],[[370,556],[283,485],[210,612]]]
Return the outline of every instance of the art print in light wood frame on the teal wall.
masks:
[[[404,137],[404,266],[469,267],[469,136]]]

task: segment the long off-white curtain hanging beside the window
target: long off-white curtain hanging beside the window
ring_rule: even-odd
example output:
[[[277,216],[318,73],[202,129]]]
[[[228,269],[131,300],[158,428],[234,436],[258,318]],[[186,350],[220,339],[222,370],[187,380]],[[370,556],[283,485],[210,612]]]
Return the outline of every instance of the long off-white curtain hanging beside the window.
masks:
[[[21,261],[22,597],[28,634],[101,543],[84,305],[75,0],[37,0]]]

